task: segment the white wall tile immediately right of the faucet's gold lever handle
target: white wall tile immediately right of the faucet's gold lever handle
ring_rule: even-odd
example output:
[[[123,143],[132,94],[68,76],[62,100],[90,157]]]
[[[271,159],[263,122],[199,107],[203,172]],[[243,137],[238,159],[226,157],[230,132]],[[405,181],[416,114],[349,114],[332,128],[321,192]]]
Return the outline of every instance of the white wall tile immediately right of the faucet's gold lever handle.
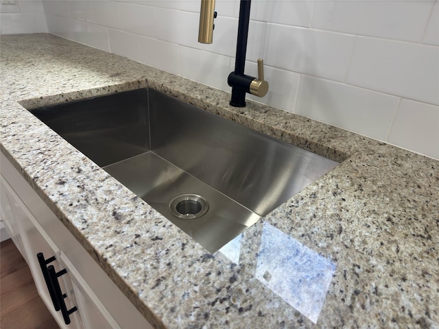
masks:
[[[268,24],[266,39],[267,65],[344,82],[354,36]]]

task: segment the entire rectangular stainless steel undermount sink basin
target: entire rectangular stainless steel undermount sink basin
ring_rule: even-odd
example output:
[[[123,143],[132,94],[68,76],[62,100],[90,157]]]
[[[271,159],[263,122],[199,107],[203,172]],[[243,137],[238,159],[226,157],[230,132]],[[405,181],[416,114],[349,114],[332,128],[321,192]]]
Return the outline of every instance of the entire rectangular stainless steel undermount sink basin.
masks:
[[[209,252],[338,164],[151,89],[30,112]]]

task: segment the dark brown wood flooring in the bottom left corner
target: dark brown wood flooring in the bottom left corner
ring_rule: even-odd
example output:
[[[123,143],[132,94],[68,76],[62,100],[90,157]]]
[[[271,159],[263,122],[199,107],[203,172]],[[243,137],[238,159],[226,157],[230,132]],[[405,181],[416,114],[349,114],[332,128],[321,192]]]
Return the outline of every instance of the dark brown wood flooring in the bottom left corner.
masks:
[[[0,244],[0,328],[58,329],[11,239]]]

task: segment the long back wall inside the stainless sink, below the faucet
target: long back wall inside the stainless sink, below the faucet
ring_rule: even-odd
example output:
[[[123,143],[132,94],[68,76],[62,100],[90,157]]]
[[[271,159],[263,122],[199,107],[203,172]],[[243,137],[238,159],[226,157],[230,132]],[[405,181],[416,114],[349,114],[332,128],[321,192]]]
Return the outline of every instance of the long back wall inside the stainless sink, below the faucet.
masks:
[[[338,163],[156,92],[151,147],[265,216]],[[178,149],[178,151],[176,151]]]

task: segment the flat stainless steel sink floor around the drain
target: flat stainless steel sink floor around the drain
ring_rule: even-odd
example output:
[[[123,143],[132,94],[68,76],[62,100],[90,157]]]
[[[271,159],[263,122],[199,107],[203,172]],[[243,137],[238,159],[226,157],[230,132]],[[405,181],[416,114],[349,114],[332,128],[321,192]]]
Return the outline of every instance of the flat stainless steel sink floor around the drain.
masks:
[[[217,251],[261,218],[153,152],[104,169],[209,252]],[[209,203],[209,210],[196,219],[173,215],[169,203],[185,193],[202,195]]]

